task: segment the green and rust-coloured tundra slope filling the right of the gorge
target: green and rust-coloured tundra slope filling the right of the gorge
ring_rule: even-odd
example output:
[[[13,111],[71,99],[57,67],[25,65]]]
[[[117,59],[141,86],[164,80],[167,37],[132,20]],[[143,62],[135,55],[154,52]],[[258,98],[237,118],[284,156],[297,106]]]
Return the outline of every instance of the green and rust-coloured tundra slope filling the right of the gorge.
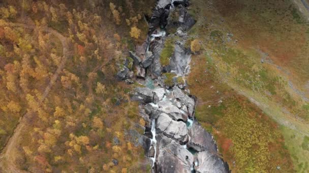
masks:
[[[309,28],[292,3],[191,1],[196,118],[232,171],[309,170]]]

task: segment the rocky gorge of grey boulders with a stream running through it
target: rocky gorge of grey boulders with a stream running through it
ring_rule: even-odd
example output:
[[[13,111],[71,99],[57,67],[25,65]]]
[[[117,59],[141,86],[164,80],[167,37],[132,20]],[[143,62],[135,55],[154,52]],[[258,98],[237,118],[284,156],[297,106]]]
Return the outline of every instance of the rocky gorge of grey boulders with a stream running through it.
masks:
[[[194,117],[197,98],[186,81],[191,62],[187,31],[195,24],[189,5],[187,0],[159,0],[146,41],[130,51],[117,76],[140,85],[131,100],[140,103],[146,121],[140,143],[152,172],[229,172],[212,135]]]

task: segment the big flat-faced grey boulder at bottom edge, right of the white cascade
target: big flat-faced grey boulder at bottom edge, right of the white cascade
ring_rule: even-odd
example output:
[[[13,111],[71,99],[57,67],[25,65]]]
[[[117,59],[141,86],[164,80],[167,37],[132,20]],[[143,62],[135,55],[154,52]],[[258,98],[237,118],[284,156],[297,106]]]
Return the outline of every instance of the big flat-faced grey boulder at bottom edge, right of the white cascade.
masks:
[[[194,158],[187,149],[162,134],[157,136],[157,141],[156,172],[191,173]]]

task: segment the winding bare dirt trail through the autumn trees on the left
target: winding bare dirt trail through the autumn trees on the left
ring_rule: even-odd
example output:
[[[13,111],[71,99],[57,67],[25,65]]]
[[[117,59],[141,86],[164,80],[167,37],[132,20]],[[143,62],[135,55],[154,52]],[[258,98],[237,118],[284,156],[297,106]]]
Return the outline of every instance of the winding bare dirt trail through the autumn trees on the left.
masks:
[[[40,100],[40,104],[45,100],[45,98],[48,96],[52,86],[54,85],[54,83],[56,82],[59,74],[61,73],[61,71],[64,69],[66,61],[68,59],[68,57],[70,56],[71,52],[70,52],[70,45],[69,42],[67,40],[67,38],[65,36],[63,36],[62,34],[60,34],[58,31],[49,28],[49,27],[45,27],[45,28],[38,28],[34,25],[26,25],[26,24],[21,24],[21,23],[6,23],[6,24],[2,24],[0,23],[0,25],[7,25],[7,26],[11,26],[11,27],[23,27],[23,28],[28,28],[28,29],[38,29],[41,31],[45,31],[48,33],[53,34],[54,36],[56,36],[60,41],[61,41],[61,45],[63,46],[63,57],[61,59],[61,62],[57,68],[57,70],[55,71],[55,73],[53,74],[53,76],[50,79],[49,84],[46,86],[43,96]],[[14,129],[14,133],[12,134],[12,136],[10,137],[10,139],[8,140],[6,146],[4,147],[2,153],[0,154],[0,167],[6,167],[7,168],[7,172],[25,172],[23,170],[19,170],[14,163],[14,154],[13,152],[18,152],[16,151],[16,146],[19,143],[20,140],[20,135],[21,132],[23,131],[23,129],[25,128],[26,124],[27,124],[27,118],[32,115],[32,112],[27,112],[26,114],[24,114],[20,119],[19,122],[16,126],[16,128]],[[3,160],[6,160],[6,163],[4,163]],[[0,170],[1,171],[1,170]]]

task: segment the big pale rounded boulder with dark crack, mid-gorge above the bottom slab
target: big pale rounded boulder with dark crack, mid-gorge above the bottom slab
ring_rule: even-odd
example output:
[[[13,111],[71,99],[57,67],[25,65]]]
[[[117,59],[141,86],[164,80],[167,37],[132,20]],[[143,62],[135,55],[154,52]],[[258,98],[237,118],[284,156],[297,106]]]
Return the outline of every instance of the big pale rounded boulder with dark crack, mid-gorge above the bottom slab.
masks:
[[[189,140],[186,123],[174,121],[165,113],[162,113],[157,119],[156,128],[167,137],[175,139],[181,144]]]

